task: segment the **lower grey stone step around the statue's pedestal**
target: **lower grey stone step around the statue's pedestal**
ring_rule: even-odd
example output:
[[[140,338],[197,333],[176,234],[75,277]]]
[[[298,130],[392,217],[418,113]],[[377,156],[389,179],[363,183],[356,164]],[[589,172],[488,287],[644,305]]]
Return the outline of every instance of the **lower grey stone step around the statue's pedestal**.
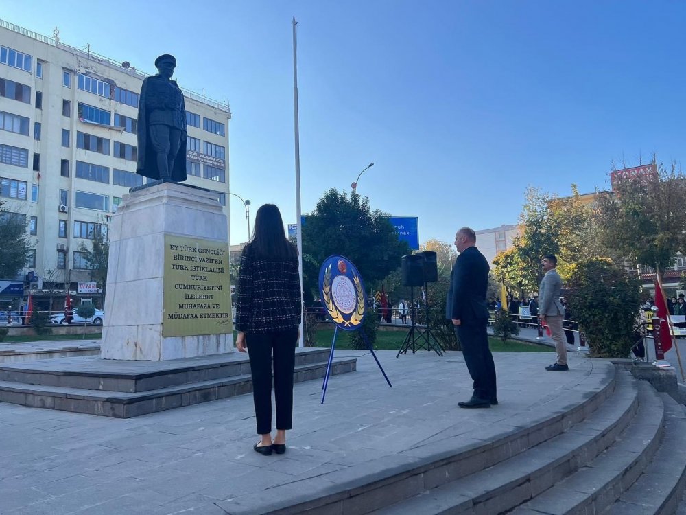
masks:
[[[327,353],[328,355],[328,353]],[[331,374],[355,371],[356,359],[334,358]],[[324,377],[327,362],[296,365],[295,382]],[[21,382],[0,381],[0,402],[23,406],[90,413],[116,418],[130,418],[157,411],[165,411],[190,404],[208,402],[250,393],[252,378],[249,374],[232,375],[198,382],[185,382],[140,392],[104,391],[53,385],[32,385]]]

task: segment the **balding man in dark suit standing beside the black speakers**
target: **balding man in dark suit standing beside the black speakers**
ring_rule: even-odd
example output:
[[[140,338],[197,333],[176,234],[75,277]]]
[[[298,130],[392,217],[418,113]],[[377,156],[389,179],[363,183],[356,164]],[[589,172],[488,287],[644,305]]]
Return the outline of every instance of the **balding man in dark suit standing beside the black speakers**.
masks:
[[[488,261],[476,248],[476,234],[462,227],[455,235],[455,247],[460,255],[450,273],[445,316],[453,322],[462,356],[474,381],[474,393],[460,408],[490,408],[498,404],[495,364],[488,347]]]

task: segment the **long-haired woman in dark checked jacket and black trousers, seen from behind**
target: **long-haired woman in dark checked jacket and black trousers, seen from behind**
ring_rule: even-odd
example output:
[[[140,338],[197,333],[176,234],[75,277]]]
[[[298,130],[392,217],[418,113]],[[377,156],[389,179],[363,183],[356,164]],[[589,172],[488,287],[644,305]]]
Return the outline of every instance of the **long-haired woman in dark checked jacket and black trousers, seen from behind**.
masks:
[[[252,239],[238,271],[236,348],[250,356],[257,433],[262,455],[286,451],[292,428],[293,369],[302,313],[298,250],[287,240],[279,208],[265,204],[255,215]],[[276,435],[272,440],[272,352]]]

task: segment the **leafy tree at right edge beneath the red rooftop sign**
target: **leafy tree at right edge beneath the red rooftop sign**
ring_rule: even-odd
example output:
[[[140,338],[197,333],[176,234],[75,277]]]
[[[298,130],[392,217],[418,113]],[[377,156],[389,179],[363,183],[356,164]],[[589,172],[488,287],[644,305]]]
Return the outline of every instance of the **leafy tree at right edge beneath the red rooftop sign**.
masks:
[[[617,181],[598,200],[602,241],[624,260],[663,273],[686,249],[684,198],[686,177],[674,164],[669,171],[660,164],[656,177]]]

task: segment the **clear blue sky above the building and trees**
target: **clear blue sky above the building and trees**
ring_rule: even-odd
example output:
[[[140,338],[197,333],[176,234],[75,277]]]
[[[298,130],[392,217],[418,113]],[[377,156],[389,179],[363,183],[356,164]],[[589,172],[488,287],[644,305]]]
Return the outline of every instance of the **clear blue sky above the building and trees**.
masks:
[[[176,10],[167,5],[178,5]],[[154,14],[156,8],[163,14]],[[0,0],[0,18],[230,102],[230,190],[295,222],[291,19],[303,212],[331,187],[421,241],[514,223],[527,185],[608,187],[611,163],[686,141],[683,1]],[[246,240],[233,199],[231,242]],[[351,235],[352,237],[352,235]]]

